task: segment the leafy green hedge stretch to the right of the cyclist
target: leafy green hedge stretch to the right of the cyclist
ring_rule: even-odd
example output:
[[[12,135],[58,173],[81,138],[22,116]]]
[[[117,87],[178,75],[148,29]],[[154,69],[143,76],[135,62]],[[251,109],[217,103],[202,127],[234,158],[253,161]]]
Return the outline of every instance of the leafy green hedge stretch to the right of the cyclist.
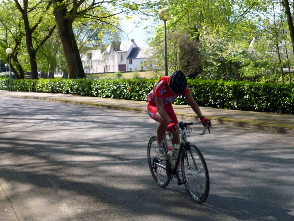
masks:
[[[294,114],[294,84],[249,81],[188,80],[198,105],[230,110]],[[183,98],[176,104],[188,104]]]

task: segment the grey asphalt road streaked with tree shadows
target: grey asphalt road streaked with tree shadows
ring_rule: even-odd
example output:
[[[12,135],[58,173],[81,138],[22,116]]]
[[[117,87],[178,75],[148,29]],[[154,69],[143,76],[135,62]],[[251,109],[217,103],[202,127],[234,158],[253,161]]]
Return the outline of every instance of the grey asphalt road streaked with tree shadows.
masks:
[[[156,185],[144,114],[0,95],[0,220],[294,220],[294,136],[213,125],[211,189]]]

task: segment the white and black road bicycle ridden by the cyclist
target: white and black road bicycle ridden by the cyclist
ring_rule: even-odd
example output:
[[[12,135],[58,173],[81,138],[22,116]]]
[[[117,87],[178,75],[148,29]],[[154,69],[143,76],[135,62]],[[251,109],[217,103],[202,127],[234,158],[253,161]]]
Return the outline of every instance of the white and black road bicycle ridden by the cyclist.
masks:
[[[201,121],[184,123],[181,121],[178,124],[179,129],[175,133],[180,133],[181,142],[178,153],[175,153],[175,163],[171,165],[169,159],[170,156],[167,153],[168,141],[173,139],[173,134],[167,132],[163,139],[163,150],[166,154],[166,161],[161,161],[156,158],[156,141],[157,137],[152,136],[148,142],[148,164],[153,176],[153,179],[160,187],[166,187],[169,182],[176,175],[176,167],[181,161],[182,176],[185,187],[190,197],[197,203],[203,203],[209,192],[209,175],[206,166],[205,159],[201,154],[201,151],[193,144],[189,143],[187,137],[190,135],[192,129],[189,127],[193,124],[202,124]],[[200,135],[205,134],[206,129],[209,127],[204,126],[203,132]],[[167,138],[168,136],[168,138]],[[178,185],[180,183],[178,182]]]

